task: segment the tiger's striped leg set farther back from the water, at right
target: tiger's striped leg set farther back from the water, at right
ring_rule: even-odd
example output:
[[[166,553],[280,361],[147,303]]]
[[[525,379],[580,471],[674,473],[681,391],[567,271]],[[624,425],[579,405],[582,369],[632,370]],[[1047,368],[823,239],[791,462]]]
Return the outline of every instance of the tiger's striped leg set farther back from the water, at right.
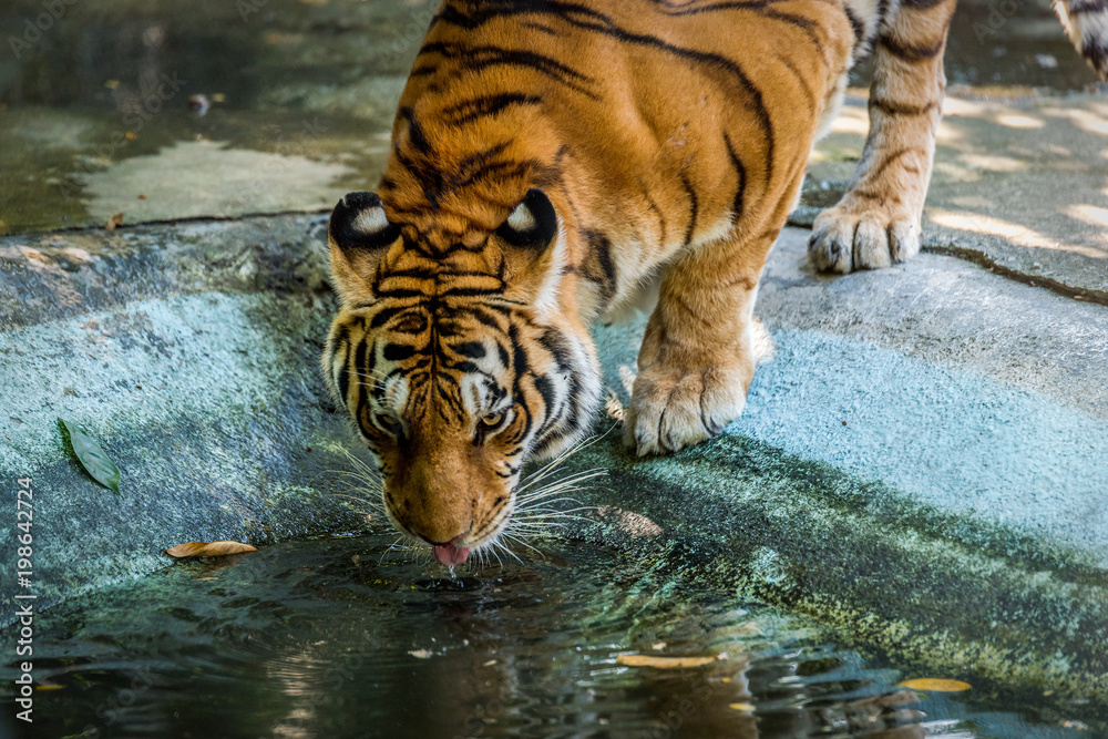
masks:
[[[902,3],[879,31],[870,133],[850,188],[812,226],[808,252],[823,271],[905,261],[920,250],[946,78],[943,50],[955,0]]]

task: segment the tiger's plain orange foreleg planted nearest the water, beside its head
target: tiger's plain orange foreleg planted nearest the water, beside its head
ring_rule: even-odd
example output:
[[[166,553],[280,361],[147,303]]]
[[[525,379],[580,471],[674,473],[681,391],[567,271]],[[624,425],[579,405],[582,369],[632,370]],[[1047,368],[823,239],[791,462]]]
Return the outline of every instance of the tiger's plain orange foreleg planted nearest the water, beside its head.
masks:
[[[639,456],[709,439],[742,412],[758,279],[778,230],[701,247],[666,268],[626,417],[626,443]]]

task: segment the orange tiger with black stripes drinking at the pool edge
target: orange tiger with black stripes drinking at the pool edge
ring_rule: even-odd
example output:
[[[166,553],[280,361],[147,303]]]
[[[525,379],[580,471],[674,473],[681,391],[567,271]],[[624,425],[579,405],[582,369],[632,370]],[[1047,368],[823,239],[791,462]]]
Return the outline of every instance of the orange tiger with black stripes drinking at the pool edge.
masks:
[[[1105,0],[1057,0],[1104,75]],[[391,523],[454,566],[496,544],[529,462],[586,437],[589,328],[656,292],[624,419],[677,452],[742,412],[752,309],[848,72],[870,131],[814,222],[820,270],[910,259],[955,0],[445,0],[376,192],[328,224],[322,352]],[[652,288],[653,286],[653,288]]]

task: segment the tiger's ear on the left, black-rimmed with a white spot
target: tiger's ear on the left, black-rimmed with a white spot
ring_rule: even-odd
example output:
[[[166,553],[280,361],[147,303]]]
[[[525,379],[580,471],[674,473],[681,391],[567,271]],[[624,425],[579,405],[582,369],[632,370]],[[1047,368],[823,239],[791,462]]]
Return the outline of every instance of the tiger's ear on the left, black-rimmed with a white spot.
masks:
[[[327,226],[331,252],[331,283],[343,306],[371,299],[370,278],[386,249],[400,238],[400,226],[389,223],[377,193],[348,193]]]

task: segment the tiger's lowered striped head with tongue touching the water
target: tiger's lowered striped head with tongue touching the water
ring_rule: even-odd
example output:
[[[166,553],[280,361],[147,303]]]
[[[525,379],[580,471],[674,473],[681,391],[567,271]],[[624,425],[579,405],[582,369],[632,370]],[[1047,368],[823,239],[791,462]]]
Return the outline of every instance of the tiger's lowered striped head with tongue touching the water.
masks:
[[[504,532],[524,463],[586,433],[599,369],[543,168],[447,187],[398,158],[331,215],[340,308],[322,366],[389,519],[454,565]]]

